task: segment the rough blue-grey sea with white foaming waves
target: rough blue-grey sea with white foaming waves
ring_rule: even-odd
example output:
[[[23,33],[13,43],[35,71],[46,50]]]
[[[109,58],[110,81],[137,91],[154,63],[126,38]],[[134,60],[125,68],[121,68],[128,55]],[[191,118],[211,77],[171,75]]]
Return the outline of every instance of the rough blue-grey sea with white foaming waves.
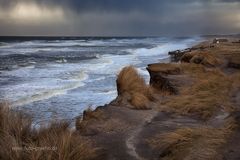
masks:
[[[202,37],[0,37],[0,101],[35,122],[74,119],[117,96],[116,77],[128,65],[146,83],[150,63]]]

